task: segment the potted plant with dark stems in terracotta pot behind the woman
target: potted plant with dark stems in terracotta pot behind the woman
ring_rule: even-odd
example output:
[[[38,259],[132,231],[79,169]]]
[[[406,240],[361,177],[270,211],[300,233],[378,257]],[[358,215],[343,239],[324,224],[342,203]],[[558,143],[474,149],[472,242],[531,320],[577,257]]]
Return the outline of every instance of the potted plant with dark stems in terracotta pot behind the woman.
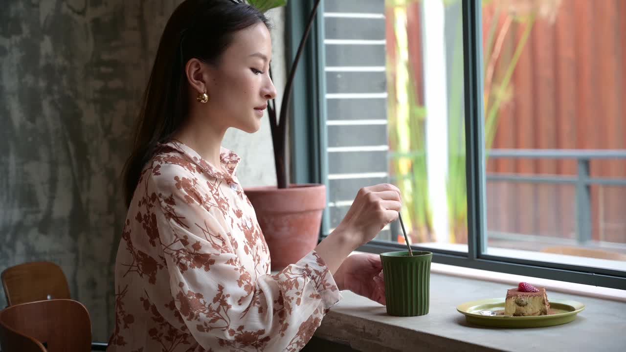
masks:
[[[309,14],[307,27],[302,39],[300,39],[294,62],[287,72],[287,83],[285,84],[280,110],[277,111],[274,100],[270,100],[267,105],[274,145],[277,185],[252,187],[244,190],[255,209],[259,225],[269,247],[272,271],[280,270],[299,261],[317,246],[322,212],[326,208],[326,186],[322,184],[290,184],[286,162],[287,112],[292,85],[320,1],[316,0]],[[265,12],[272,8],[285,6],[287,0],[248,0],[248,3]]]

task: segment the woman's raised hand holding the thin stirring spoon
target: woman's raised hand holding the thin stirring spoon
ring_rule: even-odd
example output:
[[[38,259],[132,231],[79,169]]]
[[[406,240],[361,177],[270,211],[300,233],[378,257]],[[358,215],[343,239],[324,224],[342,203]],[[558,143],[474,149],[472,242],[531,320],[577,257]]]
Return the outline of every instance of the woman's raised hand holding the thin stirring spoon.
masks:
[[[346,217],[335,231],[351,236],[356,247],[366,244],[383,227],[398,219],[401,202],[400,190],[394,185],[364,187],[357,193]]]

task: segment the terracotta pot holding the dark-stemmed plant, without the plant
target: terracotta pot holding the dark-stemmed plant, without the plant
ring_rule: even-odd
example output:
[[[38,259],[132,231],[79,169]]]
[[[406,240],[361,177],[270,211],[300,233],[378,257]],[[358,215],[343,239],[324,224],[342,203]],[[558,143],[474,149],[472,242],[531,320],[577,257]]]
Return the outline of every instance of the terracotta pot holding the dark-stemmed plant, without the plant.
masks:
[[[272,271],[299,261],[317,246],[326,208],[325,185],[252,187],[244,192],[257,213],[272,257]]]

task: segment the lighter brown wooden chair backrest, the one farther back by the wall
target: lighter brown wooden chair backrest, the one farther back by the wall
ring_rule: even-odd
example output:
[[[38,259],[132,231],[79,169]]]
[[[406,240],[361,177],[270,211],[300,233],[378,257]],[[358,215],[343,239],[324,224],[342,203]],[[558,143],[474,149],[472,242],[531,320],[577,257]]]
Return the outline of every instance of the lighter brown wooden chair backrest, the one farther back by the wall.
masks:
[[[63,270],[52,262],[28,262],[1,274],[9,306],[44,299],[71,298]]]

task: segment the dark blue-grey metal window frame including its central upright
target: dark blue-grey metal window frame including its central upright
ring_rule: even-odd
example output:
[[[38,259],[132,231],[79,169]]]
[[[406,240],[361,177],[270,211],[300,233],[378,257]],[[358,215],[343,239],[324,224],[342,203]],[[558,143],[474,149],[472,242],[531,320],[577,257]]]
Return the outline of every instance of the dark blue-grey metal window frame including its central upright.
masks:
[[[384,1],[384,0],[381,0]],[[482,3],[463,1],[464,118],[466,137],[466,182],[468,202],[468,252],[444,251],[419,245],[418,251],[433,252],[433,262],[454,266],[540,277],[593,286],[626,289],[626,271],[531,261],[486,254],[486,168],[483,116]],[[294,58],[306,19],[315,0],[289,1],[286,13],[287,62]],[[292,182],[328,185],[326,136],[326,80],[324,73],[324,1],[317,11],[299,73],[294,82],[290,107],[290,162]],[[327,190],[328,192],[328,190]],[[329,210],[324,210],[320,239],[329,228]],[[372,241],[359,251],[401,251],[404,244]]]

